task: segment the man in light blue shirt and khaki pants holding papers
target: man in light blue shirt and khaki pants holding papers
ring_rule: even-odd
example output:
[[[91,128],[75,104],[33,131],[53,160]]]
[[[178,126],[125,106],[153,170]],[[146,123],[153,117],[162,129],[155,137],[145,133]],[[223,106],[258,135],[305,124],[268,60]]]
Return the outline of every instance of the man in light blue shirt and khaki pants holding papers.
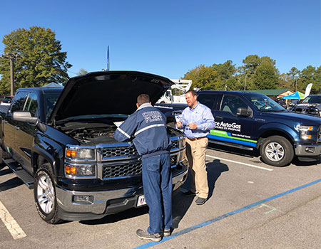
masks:
[[[198,95],[194,90],[188,90],[185,94],[186,107],[176,126],[178,129],[184,128],[186,136],[186,155],[192,175],[190,190],[183,193],[185,196],[195,196],[198,198],[195,203],[203,205],[208,198],[208,173],[205,165],[205,153],[208,145],[210,129],[214,129],[215,121],[213,114],[205,105],[198,102]]]

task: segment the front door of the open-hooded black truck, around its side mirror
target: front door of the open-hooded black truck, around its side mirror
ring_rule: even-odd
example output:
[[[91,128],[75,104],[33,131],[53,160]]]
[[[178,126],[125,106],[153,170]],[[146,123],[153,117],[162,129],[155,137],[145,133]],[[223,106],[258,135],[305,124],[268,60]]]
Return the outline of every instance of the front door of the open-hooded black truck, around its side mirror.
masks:
[[[32,117],[39,117],[39,103],[36,92],[30,92],[24,107],[24,111],[31,113]],[[19,163],[32,172],[31,166],[31,148],[34,145],[34,136],[36,134],[36,127],[34,124],[28,122],[16,122],[20,129],[16,129],[16,152],[19,154]]]

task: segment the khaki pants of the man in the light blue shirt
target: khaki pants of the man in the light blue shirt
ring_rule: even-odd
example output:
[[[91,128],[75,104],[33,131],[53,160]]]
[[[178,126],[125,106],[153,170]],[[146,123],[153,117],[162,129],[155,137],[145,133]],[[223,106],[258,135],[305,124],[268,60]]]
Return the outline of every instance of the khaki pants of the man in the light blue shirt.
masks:
[[[205,153],[208,138],[190,140],[186,138],[186,156],[192,174],[190,191],[200,198],[208,198],[208,172],[205,165]]]

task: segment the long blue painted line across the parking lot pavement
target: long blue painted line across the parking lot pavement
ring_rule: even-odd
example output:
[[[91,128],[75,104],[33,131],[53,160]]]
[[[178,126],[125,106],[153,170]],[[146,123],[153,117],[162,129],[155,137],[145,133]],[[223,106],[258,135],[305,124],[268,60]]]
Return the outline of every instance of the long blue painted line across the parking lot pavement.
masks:
[[[168,236],[168,237],[164,237],[163,240],[161,240],[160,242],[149,242],[149,243],[146,243],[146,244],[144,244],[144,245],[140,245],[140,246],[138,246],[138,247],[136,247],[136,248],[133,248],[133,249],[151,248],[151,247],[154,246],[154,245],[158,245],[158,244],[163,243],[163,242],[165,242],[165,241],[167,241],[167,240],[171,240],[172,238],[176,238],[176,237],[178,237],[178,236],[180,236],[180,235],[183,235],[183,234],[185,234],[185,233],[189,233],[189,232],[194,231],[194,230],[196,230],[196,229],[198,229],[198,228],[203,228],[204,226],[208,226],[208,225],[210,225],[210,224],[212,224],[212,223],[214,223],[214,222],[216,222],[216,221],[223,220],[223,218],[227,218],[227,217],[229,217],[229,216],[233,216],[233,215],[235,215],[235,214],[237,214],[237,213],[243,212],[243,211],[248,210],[248,209],[250,209],[250,208],[253,208],[253,207],[255,207],[255,206],[259,206],[260,204],[265,203],[265,202],[267,202],[267,201],[272,201],[272,200],[274,200],[274,199],[276,199],[276,198],[280,198],[280,197],[282,197],[282,196],[286,196],[287,194],[291,194],[291,193],[293,193],[293,192],[295,192],[295,191],[298,191],[298,190],[300,190],[300,189],[305,189],[305,188],[308,187],[308,186],[312,186],[312,185],[318,184],[318,183],[320,183],[320,182],[321,182],[321,179],[318,179],[318,180],[316,180],[316,181],[312,181],[312,182],[310,182],[310,184],[305,184],[305,185],[299,186],[299,187],[297,187],[297,188],[295,188],[295,189],[290,189],[290,190],[285,191],[285,192],[283,192],[283,193],[281,193],[281,194],[277,194],[277,195],[275,195],[275,196],[271,196],[271,197],[269,197],[269,198],[265,198],[265,199],[263,199],[262,201],[258,201],[258,202],[252,203],[252,204],[250,204],[250,205],[248,205],[248,206],[244,206],[243,208],[239,208],[239,209],[237,209],[237,210],[235,210],[235,211],[231,211],[231,212],[229,212],[229,213],[225,213],[225,214],[223,214],[222,216],[218,216],[218,217],[213,218],[213,219],[211,219],[211,220],[209,220],[209,221],[205,221],[205,222],[200,223],[200,224],[198,224],[198,225],[191,226],[190,228],[185,228],[185,229],[183,229],[182,231],[179,231],[179,232],[177,232],[177,233],[173,233],[172,235],[170,235],[170,236]]]

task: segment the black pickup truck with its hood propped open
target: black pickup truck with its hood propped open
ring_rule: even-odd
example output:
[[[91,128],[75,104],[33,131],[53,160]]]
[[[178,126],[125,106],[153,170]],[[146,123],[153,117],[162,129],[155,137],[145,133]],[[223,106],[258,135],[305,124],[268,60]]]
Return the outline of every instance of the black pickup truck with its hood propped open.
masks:
[[[20,88],[0,110],[2,161],[34,188],[48,223],[102,218],[144,206],[141,157],[131,139],[113,138],[136,110],[155,104],[172,82],[148,73],[108,71],[71,78],[65,88]],[[187,176],[183,134],[168,127],[173,191]]]

